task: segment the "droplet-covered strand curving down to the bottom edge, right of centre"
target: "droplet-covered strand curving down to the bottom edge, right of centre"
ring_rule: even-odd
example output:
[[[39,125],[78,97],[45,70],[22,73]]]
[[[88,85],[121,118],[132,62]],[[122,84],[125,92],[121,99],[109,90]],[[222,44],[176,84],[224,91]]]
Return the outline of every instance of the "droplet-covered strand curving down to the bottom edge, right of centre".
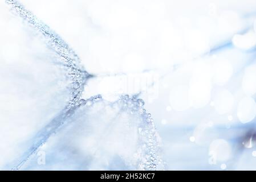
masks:
[[[139,170],[162,170],[165,167],[160,156],[160,137],[150,113],[144,109],[144,101],[140,98],[121,96],[119,103],[123,110],[140,118],[138,126],[139,148],[135,154]]]

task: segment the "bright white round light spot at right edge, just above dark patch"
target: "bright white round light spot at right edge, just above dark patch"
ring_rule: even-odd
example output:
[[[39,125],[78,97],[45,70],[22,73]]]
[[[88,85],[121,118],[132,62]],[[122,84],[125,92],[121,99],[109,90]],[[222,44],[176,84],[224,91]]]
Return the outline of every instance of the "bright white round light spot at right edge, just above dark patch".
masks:
[[[242,123],[250,122],[256,115],[256,103],[251,97],[243,98],[237,107],[237,117]]]

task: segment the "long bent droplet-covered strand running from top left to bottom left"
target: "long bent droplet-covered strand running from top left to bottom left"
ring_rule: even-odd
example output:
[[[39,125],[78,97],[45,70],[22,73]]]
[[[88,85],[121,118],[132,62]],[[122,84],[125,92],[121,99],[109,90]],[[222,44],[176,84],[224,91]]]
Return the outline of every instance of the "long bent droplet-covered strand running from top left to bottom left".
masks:
[[[26,10],[18,1],[6,0],[6,3],[9,5],[11,12],[15,16],[19,16],[22,22],[27,27],[30,27],[30,31],[43,40],[48,49],[52,51],[52,61],[56,65],[59,65],[68,80],[70,80],[67,88],[69,90],[68,92],[70,92],[70,99],[67,101],[66,108],[63,108],[60,114],[56,115],[47,126],[36,134],[34,144],[25,152],[21,158],[21,162],[14,168],[19,169],[52,134],[56,133],[56,130],[63,125],[66,119],[74,113],[75,106],[78,104],[84,90],[84,85],[91,75],[80,64],[78,55],[50,27],[36,18],[30,11]]]

